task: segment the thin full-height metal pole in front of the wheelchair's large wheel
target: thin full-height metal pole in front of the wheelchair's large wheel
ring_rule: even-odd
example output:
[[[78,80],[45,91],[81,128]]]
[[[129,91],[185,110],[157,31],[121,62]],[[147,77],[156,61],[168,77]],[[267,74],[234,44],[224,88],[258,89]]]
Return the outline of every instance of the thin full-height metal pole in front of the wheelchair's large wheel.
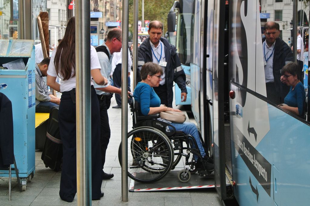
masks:
[[[127,132],[128,132],[128,0],[123,0],[122,16],[122,201],[128,202]]]

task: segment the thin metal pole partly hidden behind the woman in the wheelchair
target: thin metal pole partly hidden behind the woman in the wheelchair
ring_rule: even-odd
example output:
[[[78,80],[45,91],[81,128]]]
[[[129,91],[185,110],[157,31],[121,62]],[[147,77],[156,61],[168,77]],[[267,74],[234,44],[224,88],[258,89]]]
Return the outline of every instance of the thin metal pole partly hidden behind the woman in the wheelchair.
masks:
[[[135,86],[137,83],[137,69],[138,69],[138,0],[134,0],[134,31],[133,31],[133,61],[132,61],[132,69],[133,69],[133,91],[135,91]]]

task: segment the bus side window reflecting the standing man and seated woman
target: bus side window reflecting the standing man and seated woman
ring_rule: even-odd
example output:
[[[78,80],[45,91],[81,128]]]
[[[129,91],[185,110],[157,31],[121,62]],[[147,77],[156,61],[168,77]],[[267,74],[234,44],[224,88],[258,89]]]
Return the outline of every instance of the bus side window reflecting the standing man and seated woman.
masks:
[[[296,114],[304,118],[305,113],[305,89],[307,87],[307,76],[304,75],[305,69],[308,69],[308,62],[304,61],[305,34],[308,32],[309,5],[305,6],[303,2],[298,2],[298,25],[300,27],[300,36],[292,37],[292,18],[293,18],[293,2],[269,5],[263,1],[261,5],[261,30],[263,42],[263,68],[265,73],[266,96],[268,101],[281,106],[284,110]],[[276,0],[275,2],[283,2]],[[297,34],[298,35],[298,34]],[[297,58],[298,65],[286,66],[293,61],[292,49],[296,49],[293,45],[294,38],[297,42]],[[259,51],[259,50],[258,50]],[[306,64],[306,65],[305,65]],[[259,78],[258,76],[256,78]],[[305,83],[303,83],[305,81]],[[301,83],[299,83],[301,82]],[[301,101],[294,98],[294,88],[296,85],[302,87]],[[296,94],[295,94],[296,95]],[[289,107],[288,107],[288,106]],[[299,109],[299,110],[298,110]]]

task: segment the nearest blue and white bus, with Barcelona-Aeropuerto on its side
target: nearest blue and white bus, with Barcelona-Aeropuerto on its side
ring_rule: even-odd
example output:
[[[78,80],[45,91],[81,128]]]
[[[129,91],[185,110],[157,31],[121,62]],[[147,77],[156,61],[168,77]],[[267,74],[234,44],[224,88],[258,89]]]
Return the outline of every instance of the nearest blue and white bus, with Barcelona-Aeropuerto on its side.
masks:
[[[177,4],[184,2],[187,0]],[[191,2],[187,38],[191,108],[214,158],[219,197],[239,205],[307,205],[310,124],[267,98],[261,35],[261,25],[275,21],[288,44],[287,22],[297,27],[293,2]],[[309,5],[297,9],[309,15]],[[182,10],[178,9],[177,27],[180,16]],[[174,31],[174,19],[170,12],[169,32]],[[292,41],[294,38],[297,36]],[[275,44],[277,41],[282,40],[277,38]],[[308,68],[305,73],[308,75]],[[307,106],[309,109],[309,102]],[[303,111],[307,116],[308,110]]]

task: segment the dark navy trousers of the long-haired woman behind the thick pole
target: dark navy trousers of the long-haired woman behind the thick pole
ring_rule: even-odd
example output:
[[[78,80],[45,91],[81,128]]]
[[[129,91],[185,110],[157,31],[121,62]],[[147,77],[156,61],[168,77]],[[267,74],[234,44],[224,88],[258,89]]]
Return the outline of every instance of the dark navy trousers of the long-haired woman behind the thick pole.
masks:
[[[59,105],[59,128],[63,142],[63,164],[60,178],[60,198],[72,202],[77,192],[76,166],[76,104],[72,91],[63,92]],[[90,137],[86,137],[90,138]],[[91,191],[92,199],[101,197],[100,114],[94,87],[91,87]]]

